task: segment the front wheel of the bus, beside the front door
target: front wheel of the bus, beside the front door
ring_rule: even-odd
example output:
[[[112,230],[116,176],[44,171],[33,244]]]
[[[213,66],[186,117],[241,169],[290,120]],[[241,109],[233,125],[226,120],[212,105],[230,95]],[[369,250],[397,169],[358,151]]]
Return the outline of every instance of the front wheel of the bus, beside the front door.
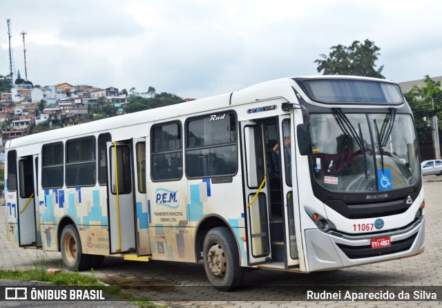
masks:
[[[204,269],[211,284],[220,291],[240,287],[244,280],[244,268],[236,240],[227,227],[211,229],[204,238]]]

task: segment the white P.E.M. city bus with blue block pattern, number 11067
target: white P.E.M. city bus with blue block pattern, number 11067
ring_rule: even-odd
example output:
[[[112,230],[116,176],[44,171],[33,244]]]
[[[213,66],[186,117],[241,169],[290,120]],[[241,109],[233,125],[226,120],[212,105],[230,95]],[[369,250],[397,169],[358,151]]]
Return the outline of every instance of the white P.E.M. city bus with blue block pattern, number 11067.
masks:
[[[268,81],[12,139],[6,158],[8,239],[61,251],[70,270],[108,255],[202,261],[229,290],[246,267],[424,250],[412,112],[382,79]]]

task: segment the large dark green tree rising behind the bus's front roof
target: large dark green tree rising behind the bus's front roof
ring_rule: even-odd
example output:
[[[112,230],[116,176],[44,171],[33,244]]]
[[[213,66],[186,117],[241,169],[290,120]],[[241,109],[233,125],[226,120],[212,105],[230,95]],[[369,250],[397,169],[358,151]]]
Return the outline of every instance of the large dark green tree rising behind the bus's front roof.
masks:
[[[381,55],[378,46],[374,41],[365,39],[363,43],[354,41],[350,46],[341,44],[332,46],[329,55],[320,54],[320,59],[314,63],[318,64],[318,73],[323,75],[355,75],[365,77],[385,77],[382,75],[384,66],[376,70],[375,62]]]

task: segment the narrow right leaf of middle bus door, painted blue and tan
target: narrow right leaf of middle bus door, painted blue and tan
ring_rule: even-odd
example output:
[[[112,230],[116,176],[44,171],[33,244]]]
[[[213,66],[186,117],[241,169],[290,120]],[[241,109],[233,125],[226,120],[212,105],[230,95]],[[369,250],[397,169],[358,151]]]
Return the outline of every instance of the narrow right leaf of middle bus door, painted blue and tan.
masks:
[[[148,206],[146,198],[146,138],[132,139],[133,170],[135,171],[134,194],[135,194],[135,223],[136,233],[135,240],[137,242],[137,256],[151,255],[151,240],[149,240],[148,229]]]

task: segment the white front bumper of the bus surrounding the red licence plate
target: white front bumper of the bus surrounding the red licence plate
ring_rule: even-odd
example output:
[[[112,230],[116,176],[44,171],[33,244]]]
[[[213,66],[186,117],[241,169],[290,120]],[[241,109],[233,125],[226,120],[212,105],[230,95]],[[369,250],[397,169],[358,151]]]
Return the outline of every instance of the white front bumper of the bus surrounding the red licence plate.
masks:
[[[372,249],[370,239],[390,236],[391,247]],[[340,269],[355,265],[406,258],[422,253],[425,246],[425,216],[401,231],[344,235],[305,230],[307,271]]]

